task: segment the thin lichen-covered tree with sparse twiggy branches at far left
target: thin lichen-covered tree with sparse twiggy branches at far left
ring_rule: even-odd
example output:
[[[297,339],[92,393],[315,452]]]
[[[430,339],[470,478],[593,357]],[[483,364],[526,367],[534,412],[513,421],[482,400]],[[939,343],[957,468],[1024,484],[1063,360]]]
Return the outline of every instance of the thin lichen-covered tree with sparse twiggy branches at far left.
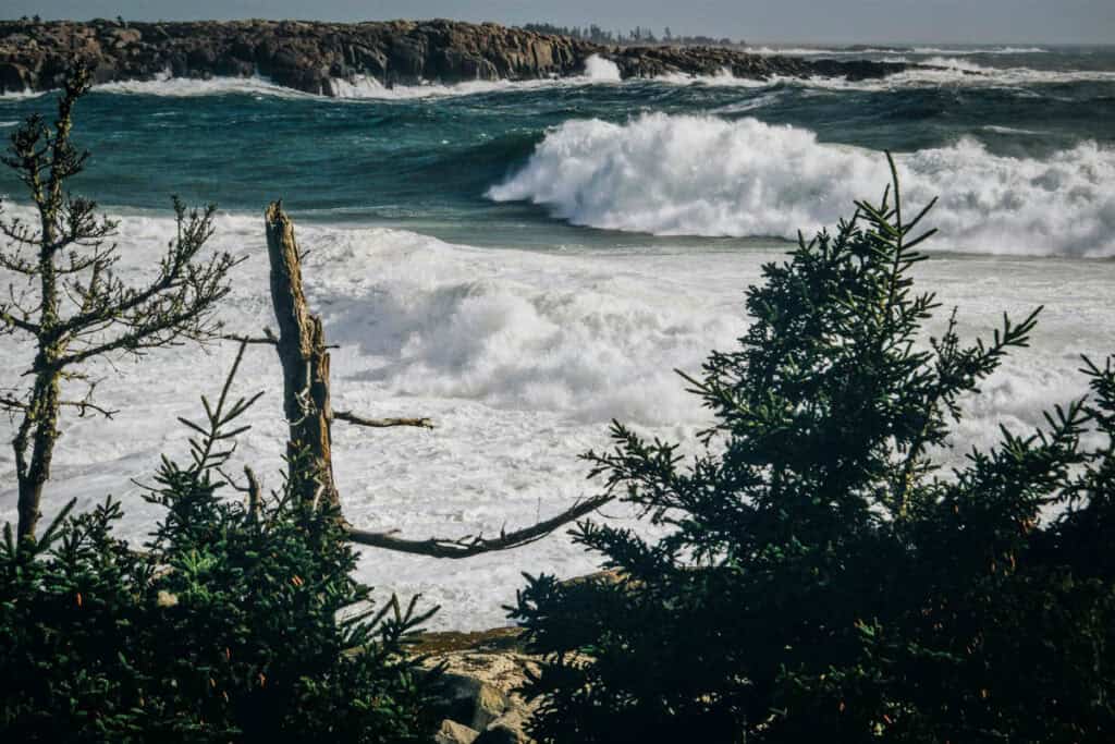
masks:
[[[113,412],[93,400],[95,383],[84,370],[97,357],[142,356],[182,339],[202,340],[220,327],[212,311],[227,294],[226,277],[236,261],[226,253],[201,260],[213,234],[215,207],[187,211],[176,197],[177,234],[140,287],[116,273],[117,224],[96,214],[95,202],[74,196],[66,182],[89,157],[70,139],[74,106],[89,88],[89,74],[69,74],[51,128],[41,116],[11,136],[3,163],[27,186],[37,220],[0,214],[0,270],[10,274],[0,300],[0,334],[21,334],[35,347],[26,389],[0,395],[0,409],[18,421],[12,448],[19,481],[19,537],[35,540],[43,484],[59,436],[59,412]],[[84,383],[86,394],[66,399],[64,384]]]

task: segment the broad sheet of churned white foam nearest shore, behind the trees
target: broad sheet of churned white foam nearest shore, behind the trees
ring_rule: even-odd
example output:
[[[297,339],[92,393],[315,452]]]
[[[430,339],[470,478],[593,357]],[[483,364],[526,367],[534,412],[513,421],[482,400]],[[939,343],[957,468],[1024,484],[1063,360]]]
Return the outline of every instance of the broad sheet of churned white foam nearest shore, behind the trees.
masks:
[[[670,370],[696,373],[709,349],[733,346],[746,327],[743,289],[783,250],[540,253],[397,230],[298,229],[311,250],[310,301],[340,346],[332,361],[334,406],[370,416],[427,415],[437,425],[375,436],[334,429],[348,518],[413,538],[493,534],[593,493],[599,486],[584,482],[576,455],[608,445],[612,417],[691,442],[707,414]],[[125,278],[149,271],[151,251],[172,231],[165,216],[125,215]],[[258,215],[223,215],[216,224],[214,247],[248,257],[222,310],[233,331],[273,325],[262,232]],[[1076,355],[1115,348],[1108,291],[1115,263],[944,257],[918,271],[943,302],[960,305],[964,334],[987,332],[1000,310],[1018,316],[1037,302],[1048,306],[1034,347],[966,404],[972,417],[959,431],[961,450],[992,444],[1000,422],[1016,431],[1040,423],[1050,390],[1058,400],[1082,392]],[[70,497],[87,509],[113,493],[126,506],[124,533],[136,539],[149,530],[159,513],[129,479],[151,473],[161,452],[185,455],[188,432],[176,417],[197,415],[197,396],[214,392],[233,351],[186,346],[95,368],[104,378],[99,400],[120,413],[108,422],[66,414],[48,516]],[[0,379],[18,379],[28,361],[16,337],[0,337]],[[266,390],[245,419],[252,429],[240,437],[237,454],[269,486],[280,482],[285,434],[280,374],[272,351],[252,347],[236,384],[239,394]],[[0,439],[10,435],[0,419]],[[959,462],[960,455],[950,457]],[[9,448],[0,448],[0,521],[14,516],[12,467]],[[607,512],[626,513],[619,506]],[[381,592],[421,592],[429,605],[443,605],[435,627],[475,629],[505,622],[500,608],[522,586],[520,571],[571,577],[594,568],[592,557],[558,534],[452,572],[434,559],[367,551],[360,576]]]

